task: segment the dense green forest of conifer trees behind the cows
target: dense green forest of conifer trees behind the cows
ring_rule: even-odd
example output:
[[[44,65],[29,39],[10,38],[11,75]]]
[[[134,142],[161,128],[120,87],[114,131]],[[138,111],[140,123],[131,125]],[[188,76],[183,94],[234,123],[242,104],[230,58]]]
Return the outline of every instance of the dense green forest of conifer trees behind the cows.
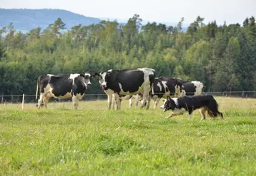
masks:
[[[147,23],[138,14],[126,24],[100,21],[66,29],[56,19],[28,33],[9,24],[0,29],[0,95],[34,95],[41,74],[94,73],[112,68],[154,68],[156,76],[201,81],[204,91],[250,91],[256,87],[256,24],[204,23],[198,16],[187,31]],[[102,93],[94,78],[88,93]]]

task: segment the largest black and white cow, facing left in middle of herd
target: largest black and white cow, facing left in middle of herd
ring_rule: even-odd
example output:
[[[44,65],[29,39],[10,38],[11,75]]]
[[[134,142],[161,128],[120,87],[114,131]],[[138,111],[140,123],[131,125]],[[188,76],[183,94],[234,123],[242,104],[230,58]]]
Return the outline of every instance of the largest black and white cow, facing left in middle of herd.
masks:
[[[120,108],[119,95],[135,95],[142,93],[142,107],[147,103],[149,108],[150,96],[154,82],[154,69],[137,68],[124,70],[109,70],[107,72],[95,73],[99,76],[99,83],[108,95],[108,108],[111,108],[112,96],[115,94],[117,109]]]

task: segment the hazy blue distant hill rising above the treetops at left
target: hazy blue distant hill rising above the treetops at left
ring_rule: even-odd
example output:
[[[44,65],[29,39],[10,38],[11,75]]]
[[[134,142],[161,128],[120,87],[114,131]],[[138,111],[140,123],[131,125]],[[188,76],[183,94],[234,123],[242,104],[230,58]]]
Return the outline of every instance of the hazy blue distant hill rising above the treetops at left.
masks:
[[[0,27],[8,26],[11,22],[18,31],[30,31],[38,26],[45,29],[56,19],[66,24],[67,29],[77,24],[97,24],[101,19],[75,14],[71,11],[59,9],[0,9]]]

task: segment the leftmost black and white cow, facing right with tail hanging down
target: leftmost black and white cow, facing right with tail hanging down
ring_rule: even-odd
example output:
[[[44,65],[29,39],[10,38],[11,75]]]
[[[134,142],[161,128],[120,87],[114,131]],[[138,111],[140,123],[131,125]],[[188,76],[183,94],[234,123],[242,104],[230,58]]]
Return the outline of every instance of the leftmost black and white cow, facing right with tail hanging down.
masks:
[[[58,99],[72,98],[74,109],[77,109],[78,102],[84,96],[87,86],[91,85],[91,74],[63,74],[63,75],[41,75],[37,78],[36,99],[38,88],[40,89],[40,98],[37,107],[40,108],[47,103],[51,97]]]

